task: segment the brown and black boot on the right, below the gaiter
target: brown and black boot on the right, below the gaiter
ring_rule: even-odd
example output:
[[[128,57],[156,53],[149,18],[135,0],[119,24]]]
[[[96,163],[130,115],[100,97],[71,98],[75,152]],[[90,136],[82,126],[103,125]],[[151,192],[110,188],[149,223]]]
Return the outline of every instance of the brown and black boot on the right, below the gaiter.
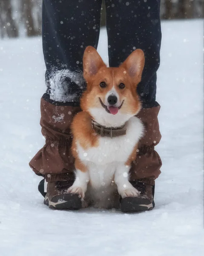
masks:
[[[150,179],[141,179],[130,182],[135,189],[138,189],[138,197],[126,197],[121,199],[122,212],[141,212],[149,211],[155,207],[154,189],[155,182]]]

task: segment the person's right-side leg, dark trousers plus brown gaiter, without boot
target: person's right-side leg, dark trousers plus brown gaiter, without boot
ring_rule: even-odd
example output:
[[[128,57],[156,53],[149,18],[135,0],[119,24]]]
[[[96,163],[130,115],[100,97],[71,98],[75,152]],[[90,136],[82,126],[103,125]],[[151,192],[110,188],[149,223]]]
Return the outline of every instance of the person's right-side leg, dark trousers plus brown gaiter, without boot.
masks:
[[[142,81],[138,84],[143,109],[138,117],[145,124],[146,134],[132,163],[131,181],[136,184],[139,180],[151,186],[161,167],[161,159],[154,150],[161,140],[157,119],[160,106],[155,101],[161,45],[159,15],[160,0],[106,0],[109,66],[120,65],[134,49],[140,48],[145,54]]]

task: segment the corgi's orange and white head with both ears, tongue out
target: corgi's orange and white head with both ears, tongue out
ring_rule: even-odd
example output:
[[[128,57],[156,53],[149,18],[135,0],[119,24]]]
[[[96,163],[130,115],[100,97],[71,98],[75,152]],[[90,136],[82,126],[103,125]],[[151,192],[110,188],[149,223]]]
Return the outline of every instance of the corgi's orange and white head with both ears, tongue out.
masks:
[[[132,52],[119,67],[106,67],[95,48],[89,46],[83,55],[83,76],[87,89],[81,108],[99,124],[119,127],[141,109],[136,91],[144,68],[141,49]]]

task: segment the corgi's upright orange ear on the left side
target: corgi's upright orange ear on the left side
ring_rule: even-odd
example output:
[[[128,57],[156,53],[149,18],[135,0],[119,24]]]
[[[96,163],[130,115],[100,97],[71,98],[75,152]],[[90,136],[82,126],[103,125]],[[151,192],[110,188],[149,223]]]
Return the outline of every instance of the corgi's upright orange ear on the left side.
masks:
[[[94,76],[101,67],[106,67],[101,56],[92,46],[86,47],[83,54],[83,76],[85,80]]]

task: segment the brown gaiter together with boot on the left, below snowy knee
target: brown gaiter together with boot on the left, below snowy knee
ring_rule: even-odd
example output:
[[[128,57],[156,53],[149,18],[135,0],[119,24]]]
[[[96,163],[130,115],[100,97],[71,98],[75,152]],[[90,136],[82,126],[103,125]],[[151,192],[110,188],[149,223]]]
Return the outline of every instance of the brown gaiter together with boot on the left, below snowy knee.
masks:
[[[54,102],[45,93],[41,99],[40,110],[40,125],[46,141],[29,165],[37,175],[45,178],[48,185],[45,193],[42,180],[38,190],[45,197],[44,203],[50,208],[80,209],[81,200],[78,195],[66,192],[75,180],[75,160],[70,149],[70,124],[73,116],[80,111],[80,107],[74,102],[70,102],[69,105]]]

